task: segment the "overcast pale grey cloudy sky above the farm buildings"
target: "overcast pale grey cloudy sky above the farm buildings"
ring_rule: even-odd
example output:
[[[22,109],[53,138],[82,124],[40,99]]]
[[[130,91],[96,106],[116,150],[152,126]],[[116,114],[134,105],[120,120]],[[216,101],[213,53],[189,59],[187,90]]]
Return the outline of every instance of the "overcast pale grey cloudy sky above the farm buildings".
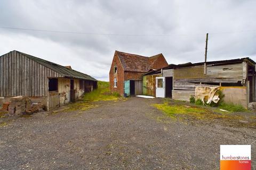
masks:
[[[0,11],[0,55],[18,50],[103,81],[115,50],[203,62],[207,32],[207,61],[256,61],[254,0],[0,0]]]

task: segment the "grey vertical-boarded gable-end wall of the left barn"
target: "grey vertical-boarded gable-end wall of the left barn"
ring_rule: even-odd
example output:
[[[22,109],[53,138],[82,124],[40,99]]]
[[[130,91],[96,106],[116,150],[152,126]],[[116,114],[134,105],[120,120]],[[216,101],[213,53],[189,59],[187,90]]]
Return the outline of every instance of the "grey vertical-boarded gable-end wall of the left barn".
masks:
[[[0,96],[45,97],[48,77],[59,73],[13,51],[0,56]]]

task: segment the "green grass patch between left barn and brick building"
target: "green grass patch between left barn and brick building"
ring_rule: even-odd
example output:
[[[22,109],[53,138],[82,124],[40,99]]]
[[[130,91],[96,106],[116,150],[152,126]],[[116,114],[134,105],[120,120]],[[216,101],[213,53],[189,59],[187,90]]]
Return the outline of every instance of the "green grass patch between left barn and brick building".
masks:
[[[106,81],[98,81],[98,89],[84,95],[84,101],[109,101],[120,98],[119,94],[110,92],[109,82]]]

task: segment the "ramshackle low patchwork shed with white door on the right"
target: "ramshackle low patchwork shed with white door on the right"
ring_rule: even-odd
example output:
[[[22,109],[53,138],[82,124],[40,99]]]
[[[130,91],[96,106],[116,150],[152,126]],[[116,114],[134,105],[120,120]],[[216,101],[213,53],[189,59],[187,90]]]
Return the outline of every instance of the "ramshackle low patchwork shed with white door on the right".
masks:
[[[202,88],[220,88],[228,103],[247,107],[256,101],[255,64],[249,57],[170,64],[143,76],[143,94],[189,101]]]

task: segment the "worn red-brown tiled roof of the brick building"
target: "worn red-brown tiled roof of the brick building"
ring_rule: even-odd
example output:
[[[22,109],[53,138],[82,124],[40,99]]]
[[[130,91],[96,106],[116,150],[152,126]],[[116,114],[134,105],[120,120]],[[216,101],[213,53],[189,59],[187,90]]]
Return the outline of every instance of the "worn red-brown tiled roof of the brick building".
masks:
[[[154,63],[159,57],[163,56],[163,54],[157,54],[155,56],[145,57],[118,51],[116,51],[116,53],[122,63],[124,71],[134,72],[148,72],[150,69],[158,69],[154,68]]]

